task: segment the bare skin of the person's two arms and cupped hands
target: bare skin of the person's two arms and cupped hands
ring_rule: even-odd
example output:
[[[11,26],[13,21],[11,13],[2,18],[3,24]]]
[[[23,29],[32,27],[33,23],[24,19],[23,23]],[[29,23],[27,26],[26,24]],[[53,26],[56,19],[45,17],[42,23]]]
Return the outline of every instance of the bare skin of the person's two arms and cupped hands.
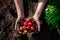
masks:
[[[16,10],[17,10],[17,15],[18,15],[16,23],[15,23],[15,30],[19,30],[17,27],[17,23],[25,17],[24,8],[23,8],[23,0],[14,0],[14,2],[15,2]],[[47,0],[38,0],[38,6],[35,11],[35,14],[33,15],[33,18],[35,19],[35,21],[38,25],[38,31],[40,31],[39,17],[41,15],[41,12],[43,11],[46,3],[47,3]]]

